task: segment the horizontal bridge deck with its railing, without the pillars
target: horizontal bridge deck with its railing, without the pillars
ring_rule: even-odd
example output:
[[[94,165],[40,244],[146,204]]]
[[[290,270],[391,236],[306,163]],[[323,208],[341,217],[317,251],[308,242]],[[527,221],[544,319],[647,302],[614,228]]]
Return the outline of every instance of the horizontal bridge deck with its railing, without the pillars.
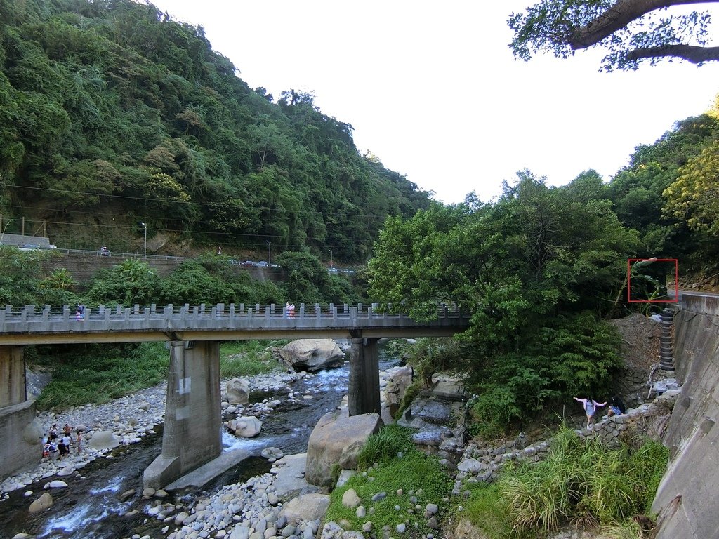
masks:
[[[404,314],[376,313],[372,307],[302,304],[289,318],[284,308],[219,304],[191,307],[86,308],[83,320],[68,305],[62,310],[35,305],[0,310],[0,344],[108,343],[139,341],[234,341],[266,338],[349,338],[352,336],[451,336],[469,326],[469,317],[448,307],[433,321]]]

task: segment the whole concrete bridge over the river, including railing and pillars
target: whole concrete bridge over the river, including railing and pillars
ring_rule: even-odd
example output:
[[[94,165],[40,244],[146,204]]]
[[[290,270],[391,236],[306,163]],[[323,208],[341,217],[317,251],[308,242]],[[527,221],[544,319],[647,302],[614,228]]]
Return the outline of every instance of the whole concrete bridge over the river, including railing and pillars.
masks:
[[[100,305],[86,308],[82,320],[68,305],[61,310],[7,306],[0,310],[0,439],[17,439],[17,433],[27,430],[35,418],[35,403],[27,400],[24,377],[24,346],[29,344],[168,342],[162,454],[145,470],[145,486],[160,488],[221,454],[221,341],[349,339],[349,413],[358,415],[380,413],[380,338],[452,336],[468,326],[468,315],[444,305],[436,319],[427,322],[376,313],[363,305],[329,305],[323,310],[320,305],[301,304],[291,318],[285,308],[275,305]],[[31,441],[27,442],[32,446]],[[32,463],[39,454],[39,447],[1,444],[0,476]]]

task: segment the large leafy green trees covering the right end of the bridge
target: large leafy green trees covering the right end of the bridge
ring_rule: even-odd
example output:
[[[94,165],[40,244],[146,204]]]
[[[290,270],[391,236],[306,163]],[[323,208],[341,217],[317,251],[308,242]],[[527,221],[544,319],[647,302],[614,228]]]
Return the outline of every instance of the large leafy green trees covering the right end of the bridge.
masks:
[[[427,348],[429,359],[413,364],[425,379],[440,365],[470,374],[477,420],[496,430],[577,392],[608,390],[618,337],[597,315],[613,309],[637,243],[596,175],[549,188],[525,171],[496,203],[388,219],[370,297],[416,318],[439,302],[472,313],[470,346]]]

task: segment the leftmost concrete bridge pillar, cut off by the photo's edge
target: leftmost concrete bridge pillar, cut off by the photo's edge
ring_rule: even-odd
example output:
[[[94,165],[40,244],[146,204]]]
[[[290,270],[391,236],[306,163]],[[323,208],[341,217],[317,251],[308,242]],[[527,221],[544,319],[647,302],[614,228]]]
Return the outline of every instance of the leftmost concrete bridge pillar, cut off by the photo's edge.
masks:
[[[23,346],[0,346],[0,479],[42,456],[42,427],[25,392]]]

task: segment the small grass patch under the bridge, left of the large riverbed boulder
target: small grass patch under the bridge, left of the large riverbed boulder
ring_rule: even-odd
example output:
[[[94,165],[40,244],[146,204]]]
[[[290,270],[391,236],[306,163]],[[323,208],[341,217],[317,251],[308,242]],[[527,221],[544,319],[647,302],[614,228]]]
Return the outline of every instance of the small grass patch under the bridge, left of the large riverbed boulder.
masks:
[[[280,369],[272,349],[288,341],[233,341],[220,345],[220,376],[255,376]]]

